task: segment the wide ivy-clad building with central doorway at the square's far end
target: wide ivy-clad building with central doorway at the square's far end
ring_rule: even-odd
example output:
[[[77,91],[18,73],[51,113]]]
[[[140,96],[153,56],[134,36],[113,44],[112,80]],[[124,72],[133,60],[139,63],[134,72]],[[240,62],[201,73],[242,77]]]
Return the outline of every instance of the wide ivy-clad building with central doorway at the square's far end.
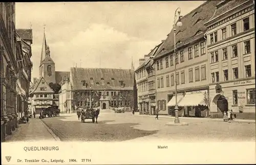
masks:
[[[106,68],[71,68],[70,77],[62,80],[60,111],[79,107],[109,109],[134,106],[134,70]]]

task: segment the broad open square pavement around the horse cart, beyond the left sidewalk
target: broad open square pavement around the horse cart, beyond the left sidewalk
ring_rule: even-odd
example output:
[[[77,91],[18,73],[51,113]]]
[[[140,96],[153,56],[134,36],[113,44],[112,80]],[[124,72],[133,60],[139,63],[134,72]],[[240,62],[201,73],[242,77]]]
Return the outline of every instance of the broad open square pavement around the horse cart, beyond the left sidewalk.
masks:
[[[60,141],[101,142],[255,142],[255,123],[220,122],[204,118],[181,118],[188,126],[166,126],[172,118],[137,116],[132,113],[115,114],[101,110],[98,124],[86,120],[81,123],[76,114],[41,119]]]

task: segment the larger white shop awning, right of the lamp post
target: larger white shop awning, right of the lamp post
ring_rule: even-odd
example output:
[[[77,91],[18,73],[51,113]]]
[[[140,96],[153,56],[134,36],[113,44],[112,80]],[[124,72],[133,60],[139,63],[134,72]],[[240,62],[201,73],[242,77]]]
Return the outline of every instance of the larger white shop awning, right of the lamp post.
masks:
[[[204,101],[204,97],[205,96],[203,93],[185,95],[184,98],[180,101],[179,106],[207,106],[207,104]]]

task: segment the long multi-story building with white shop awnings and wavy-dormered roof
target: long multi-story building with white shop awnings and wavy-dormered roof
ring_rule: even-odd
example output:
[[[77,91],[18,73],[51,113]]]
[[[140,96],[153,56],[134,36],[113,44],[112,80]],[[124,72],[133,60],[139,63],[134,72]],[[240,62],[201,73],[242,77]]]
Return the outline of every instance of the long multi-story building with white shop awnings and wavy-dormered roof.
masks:
[[[208,21],[220,1],[207,1],[181,17],[182,26],[174,29],[159,47],[154,61],[156,63],[157,107],[159,114],[173,115],[175,106],[175,76],[177,77],[177,100],[179,115],[207,116],[208,108],[208,62],[205,40]],[[174,55],[176,44],[177,58]],[[177,72],[174,70],[174,63]]]

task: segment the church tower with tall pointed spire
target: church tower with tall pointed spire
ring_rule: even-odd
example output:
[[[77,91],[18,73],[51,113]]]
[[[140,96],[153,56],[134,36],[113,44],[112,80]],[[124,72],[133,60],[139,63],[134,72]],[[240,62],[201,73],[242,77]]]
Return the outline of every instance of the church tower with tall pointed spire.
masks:
[[[42,52],[39,65],[39,76],[44,77],[47,83],[56,83],[55,79],[55,63],[51,58],[50,47],[46,42],[45,28],[44,28],[44,38],[42,39]]]

